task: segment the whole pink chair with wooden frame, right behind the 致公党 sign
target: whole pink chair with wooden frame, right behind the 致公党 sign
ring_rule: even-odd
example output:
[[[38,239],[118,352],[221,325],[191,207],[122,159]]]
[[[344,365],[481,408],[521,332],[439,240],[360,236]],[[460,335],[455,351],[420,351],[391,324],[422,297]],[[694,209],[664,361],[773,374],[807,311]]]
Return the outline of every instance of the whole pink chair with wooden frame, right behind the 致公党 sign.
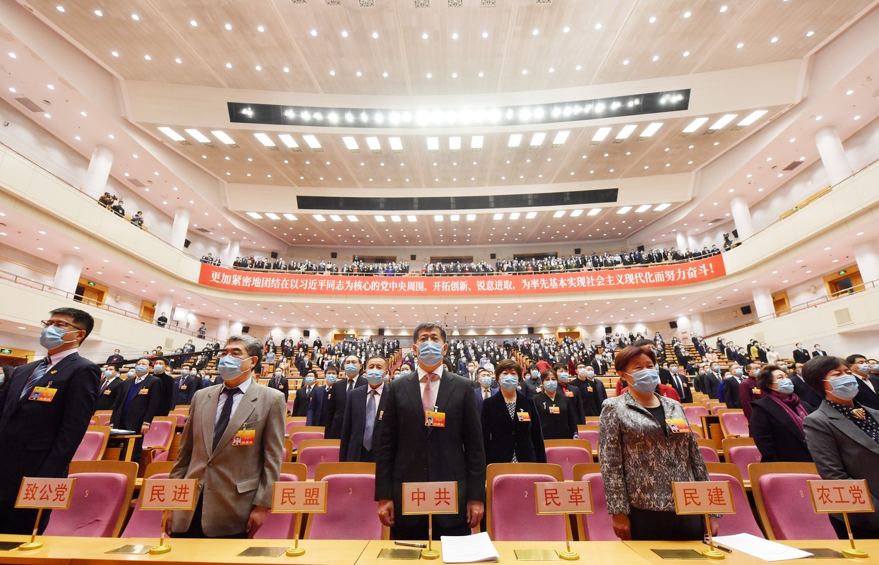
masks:
[[[134,492],[137,463],[73,461],[69,477],[76,478],[70,507],[52,511],[45,534],[77,538],[118,537]]]

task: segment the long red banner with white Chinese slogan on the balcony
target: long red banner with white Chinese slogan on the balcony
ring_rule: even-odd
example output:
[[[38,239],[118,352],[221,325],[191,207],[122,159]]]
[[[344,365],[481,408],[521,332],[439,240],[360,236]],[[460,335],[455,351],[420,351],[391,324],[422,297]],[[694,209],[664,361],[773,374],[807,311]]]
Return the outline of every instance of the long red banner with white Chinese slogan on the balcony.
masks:
[[[723,256],[680,264],[629,267],[605,271],[489,276],[302,275],[283,271],[237,271],[201,264],[205,286],[249,293],[355,294],[359,296],[494,296],[498,294],[590,293],[607,290],[691,285],[726,275]]]

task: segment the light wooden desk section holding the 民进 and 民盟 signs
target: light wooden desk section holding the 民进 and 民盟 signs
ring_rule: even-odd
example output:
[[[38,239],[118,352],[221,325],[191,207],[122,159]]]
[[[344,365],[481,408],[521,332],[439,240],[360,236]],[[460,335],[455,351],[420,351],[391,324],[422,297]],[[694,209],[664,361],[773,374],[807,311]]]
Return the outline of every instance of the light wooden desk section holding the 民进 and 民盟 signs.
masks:
[[[107,541],[107,540],[104,540]],[[166,539],[171,551],[161,555],[123,555],[106,554],[116,547],[126,545],[155,546],[156,538],[128,538],[115,540],[110,547],[92,547],[90,551],[79,552],[70,560],[76,565],[106,565],[111,562],[137,561],[161,562],[163,565],[191,565],[192,563],[237,564],[237,563],[272,563],[293,565],[354,565],[360,558],[366,540],[300,540],[299,546],[305,547],[305,554],[299,557],[238,557],[248,547],[293,547],[293,540],[183,540]],[[32,561],[33,562],[33,561]],[[385,563],[384,565],[388,565]]]

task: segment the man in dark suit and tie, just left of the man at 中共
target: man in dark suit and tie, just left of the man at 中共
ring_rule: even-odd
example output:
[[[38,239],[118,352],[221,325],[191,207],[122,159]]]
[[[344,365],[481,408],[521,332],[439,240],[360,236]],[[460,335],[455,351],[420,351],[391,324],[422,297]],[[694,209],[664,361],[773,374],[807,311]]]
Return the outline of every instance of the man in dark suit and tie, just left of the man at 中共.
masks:
[[[352,388],[345,399],[345,417],[342,420],[342,440],[339,444],[340,461],[375,460],[374,448],[381,437],[384,417],[384,377],[388,374],[388,359],[373,355],[367,359],[367,387]]]

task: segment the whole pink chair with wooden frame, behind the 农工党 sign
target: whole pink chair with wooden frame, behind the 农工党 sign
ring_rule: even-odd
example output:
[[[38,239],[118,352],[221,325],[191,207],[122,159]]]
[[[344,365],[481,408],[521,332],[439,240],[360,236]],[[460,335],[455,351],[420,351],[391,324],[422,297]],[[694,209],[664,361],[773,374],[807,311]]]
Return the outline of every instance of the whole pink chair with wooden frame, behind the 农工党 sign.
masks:
[[[754,502],[770,540],[836,540],[826,514],[815,513],[807,481],[814,463],[754,463],[748,469]]]

